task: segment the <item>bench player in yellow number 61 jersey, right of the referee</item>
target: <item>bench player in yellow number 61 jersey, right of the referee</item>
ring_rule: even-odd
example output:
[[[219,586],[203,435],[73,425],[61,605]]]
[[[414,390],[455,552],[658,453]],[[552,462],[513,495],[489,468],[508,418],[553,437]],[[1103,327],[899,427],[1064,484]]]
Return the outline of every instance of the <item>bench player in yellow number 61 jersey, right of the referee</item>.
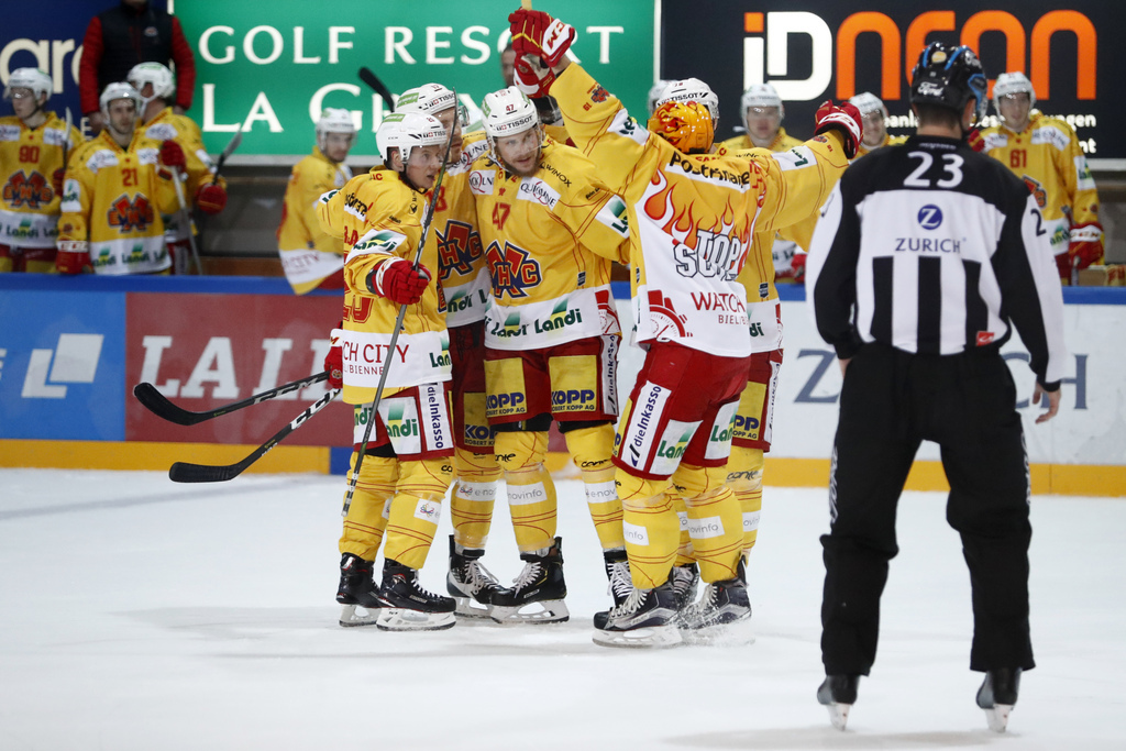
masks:
[[[1074,128],[1038,109],[1031,81],[1020,72],[1001,73],[993,106],[1001,125],[982,132],[985,152],[1006,164],[1036,196],[1052,235],[1060,278],[1102,262],[1099,194]]]

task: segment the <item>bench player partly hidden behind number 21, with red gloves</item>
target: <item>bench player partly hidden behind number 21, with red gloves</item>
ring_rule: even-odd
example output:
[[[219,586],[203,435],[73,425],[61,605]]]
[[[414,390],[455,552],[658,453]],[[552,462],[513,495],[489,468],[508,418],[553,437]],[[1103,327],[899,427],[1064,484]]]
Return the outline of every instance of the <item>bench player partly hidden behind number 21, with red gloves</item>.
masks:
[[[141,95],[141,126],[146,138],[163,144],[172,141],[182,158],[166,153],[167,163],[184,178],[182,193],[186,211],[166,214],[164,244],[172,259],[173,274],[187,274],[191,243],[188,233],[193,231],[190,209],[198,206],[206,214],[218,214],[226,206],[226,181],[215,180],[215,164],[203,145],[199,126],[187,115],[178,115],[171,102],[176,97],[176,78],[161,63],[148,62],[134,65],[126,79]],[[168,152],[175,152],[169,147]],[[179,196],[177,197],[177,208]]]

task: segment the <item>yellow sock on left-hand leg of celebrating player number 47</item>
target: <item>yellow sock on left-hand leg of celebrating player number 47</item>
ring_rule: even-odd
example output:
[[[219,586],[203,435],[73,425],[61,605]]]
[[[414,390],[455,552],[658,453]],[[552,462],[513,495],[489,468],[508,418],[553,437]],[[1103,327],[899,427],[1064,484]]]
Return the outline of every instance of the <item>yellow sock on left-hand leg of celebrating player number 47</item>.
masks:
[[[555,544],[555,483],[544,466],[547,431],[501,431],[493,446],[504,468],[516,545],[529,553]]]

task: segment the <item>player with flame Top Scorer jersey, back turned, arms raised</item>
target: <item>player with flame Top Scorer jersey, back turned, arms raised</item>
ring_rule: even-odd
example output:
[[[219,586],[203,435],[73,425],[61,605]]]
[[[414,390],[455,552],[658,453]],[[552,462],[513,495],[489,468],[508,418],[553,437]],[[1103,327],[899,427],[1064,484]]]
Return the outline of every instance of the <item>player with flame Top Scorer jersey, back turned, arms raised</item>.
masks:
[[[647,347],[614,456],[635,589],[596,623],[595,641],[671,646],[685,637],[669,582],[680,527],[665,495],[670,484],[685,498],[694,554],[709,583],[685,631],[750,615],[742,513],[725,480],[751,352],[747,293],[736,280],[751,236],[808,213],[855,153],[860,125],[851,105],[826,102],[819,135],[796,153],[713,155],[703,105],[665,102],[643,127],[565,56],[571,26],[533,10],[517,10],[509,21],[517,75],[558,100],[571,138],[625,199],[636,339]],[[538,60],[551,70],[537,70]]]

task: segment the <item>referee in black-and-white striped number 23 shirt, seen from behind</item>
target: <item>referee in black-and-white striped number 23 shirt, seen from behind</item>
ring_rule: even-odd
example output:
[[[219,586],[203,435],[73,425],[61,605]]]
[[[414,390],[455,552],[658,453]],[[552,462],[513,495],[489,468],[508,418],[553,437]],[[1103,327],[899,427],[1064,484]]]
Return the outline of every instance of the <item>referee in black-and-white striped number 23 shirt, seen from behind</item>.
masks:
[[[947,519],[973,588],[977,704],[1003,730],[1028,627],[1029,477],[1016,387],[1000,347],[1013,328],[1051,419],[1063,376],[1063,296],[1035,198],[965,142],[985,113],[981,62],[933,43],[912,74],[918,133],[848,169],[821,212],[806,289],[844,386],[829,485],[817,699],[843,728],[876,659],[879,597],[899,552],[895,509],[922,440],[941,448]]]

